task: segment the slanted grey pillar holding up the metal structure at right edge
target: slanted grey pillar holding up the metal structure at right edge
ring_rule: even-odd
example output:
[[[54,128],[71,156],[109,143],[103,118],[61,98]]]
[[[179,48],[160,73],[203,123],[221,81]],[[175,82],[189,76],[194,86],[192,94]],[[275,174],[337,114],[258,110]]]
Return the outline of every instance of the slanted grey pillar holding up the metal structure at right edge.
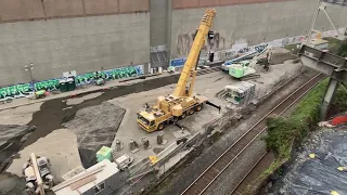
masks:
[[[327,84],[327,88],[325,91],[325,95],[323,99],[323,103],[321,105],[321,110],[320,110],[320,119],[321,120],[325,120],[327,109],[329,109],[330,104],[334,98],[334,94],[335,94],[337,87],[338,87],[338,81],[330,78],[329,84]]]

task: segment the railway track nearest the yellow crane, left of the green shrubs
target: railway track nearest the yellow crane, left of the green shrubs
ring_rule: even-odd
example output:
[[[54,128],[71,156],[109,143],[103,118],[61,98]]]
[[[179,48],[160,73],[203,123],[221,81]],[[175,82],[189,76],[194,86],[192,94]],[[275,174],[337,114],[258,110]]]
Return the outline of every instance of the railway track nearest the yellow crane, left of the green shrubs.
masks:
[[[234,144],[226,150],[207,169],[201,173],[181,194],[182,195],[197,195],[203,194],[211,183],[233,162],[235,159],[266,131],[266,118],[269,115],[281,115],[301,99],[310,89],[312,89],[325,76],[322,74],[316,75],[300,88],[291,93],[273,109],[265,115],[258,122],[247,130]],[[261,160],[261,159],[260,159]],[[256,166],[255,166],[256,167]],[[254,168],[253,168],[254,169]],[[249,171],[250,172],[250,171]],[[244,177],[242,181],[245,179]],[[240,182],[240,184],[242,183]],[[239,186],[239,185],[237,185]],[[235,188],[237,188],[235,186]]]

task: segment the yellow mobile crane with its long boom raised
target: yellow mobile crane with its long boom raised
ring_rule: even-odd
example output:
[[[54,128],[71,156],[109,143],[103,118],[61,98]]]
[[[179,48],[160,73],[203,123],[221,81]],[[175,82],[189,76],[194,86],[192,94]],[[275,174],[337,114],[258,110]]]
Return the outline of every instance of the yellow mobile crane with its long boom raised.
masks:
[[[137,121],[145,131],[163,130],[170,121],[176,122],[185,118],[187,115],[200,112],[204,103],[208,103],[207,98],[192,95],[192,93],[198,55],[215,15],[215,9],[206,10],[174,93],[168,96],[158,96],[155,105],[146,106],[145,110],[138,113]]]

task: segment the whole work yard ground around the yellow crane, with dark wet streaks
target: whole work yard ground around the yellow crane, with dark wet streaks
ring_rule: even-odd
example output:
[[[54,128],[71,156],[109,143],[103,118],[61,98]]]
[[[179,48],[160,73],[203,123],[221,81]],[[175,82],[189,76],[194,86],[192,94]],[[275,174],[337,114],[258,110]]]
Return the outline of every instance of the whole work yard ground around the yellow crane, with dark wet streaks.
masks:
[[[256,83],[256,95],[261,98],[270,93],[274,87],[297,74],[300,67],[300,64],[293,64],[292,61],[271,66],[269,73],[261,74],[260,78],[253,80]],[[115,139],[113,138],[119,139],[124,143],[124,150],[116,155],[128,154],[134,157],[134,162],[149,155],[157,154],[166,145],[177,140],[172,133],[180,129],[176,126],[167,127],[163,132],[164,139],[168,143],[164,146],[157,145],[156,135],[158,132],[147,133],[140,129],[136,122],[136,112],[145,103],[153,103],[157,96],[174,91],[175,84],[170,83],[175,83],[178,77],[165,77],[164,75],[160,77],[163,78],[159,82],[154,78],[136,80],[118,84],[116,88],[103,92],[98,91],[98,93],[74,99],[52,98],[51,100],[47,99],[46,102],[0,112],[0,126],[36,126],[33,133],[25,139],[21,138],[24,142],[23,145],[14,148],[20,151],[18,155],[7,168],[3,174],[7,177],[2,178],[9,179],[9,173],[22,177],[23,162],[27,160],[31,152],[35,152],[51,159],[52,173],[57,181],[62,181],[63,174],[67,171],[86,165],[86,161],[90,162],[89,158],[95,157],[97,148],[103,145],[114,146]],[[213,103],[221,105],[222,109],[219,113],[218,109],[206,106],[203,112],[187,117],[181,123],[188,127],[190,133],[202,130],[203,125],[221,116],[227,110],[226,106],[229,103],[215,95],[224,86],[235,82],[236,80],[221,72],[197,77],[194,91],[209,98]],[[15,132],[11,133],[15,134]],[[143,150],[141,146],[142,138],[150,140],[151,148]],[[134,139],[140,144],[140,151],[134,154],[129,151],[130,139]],[[85,159],[85,164],[80,160],[81,158]],[[13,180],[13,177],[10,178]],[[9,184],[9,182],[0,182],[0,185],[3,183]],[[9,187],[11,188],[9,185],[0,186],[1,190]]]

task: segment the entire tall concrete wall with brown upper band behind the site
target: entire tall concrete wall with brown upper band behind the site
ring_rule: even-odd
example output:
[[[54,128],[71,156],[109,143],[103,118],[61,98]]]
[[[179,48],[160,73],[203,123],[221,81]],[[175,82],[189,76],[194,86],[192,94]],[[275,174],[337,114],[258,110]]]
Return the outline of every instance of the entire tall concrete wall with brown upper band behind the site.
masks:
[[[34,79],[46,80],[61,77],[66,70],[82,74],[101,67],[145,64],[151,62],[151,47],[164,48],[168,52],[167,56],[163,54],[166,60],[184,57],[207,6],[217,9],[213,27],[216,34],[211,42],[206,41],[203,54],[236,44],[256,46],[307,35],[317,3],[318,0],[0,0],[0,87],[28,82],[30,77],[24,66],[29,63],[35,66]],[[327,12],[337,28],[346,26],[346,11]],[[319,30],[333,29],[323,13],[317,24]],[[146,65],[144,69],[147,70]]]

